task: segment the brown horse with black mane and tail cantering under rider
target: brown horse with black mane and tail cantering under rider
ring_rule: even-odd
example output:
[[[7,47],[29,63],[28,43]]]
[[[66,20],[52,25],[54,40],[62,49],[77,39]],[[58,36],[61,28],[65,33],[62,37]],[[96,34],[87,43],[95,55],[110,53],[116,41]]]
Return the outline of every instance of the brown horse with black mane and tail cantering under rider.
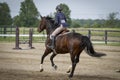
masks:
[[[95,52],[93,45],[87,36],[83,36],[80,33],[70,32],[66,30],[64,30],[63,32],[61,32],[56,36],[54,50],[47,47],[47,45],[50,44],[50,34],[56,28],[57,27],[54,25],[54,20],[51,17],[41,16],[40,25],[37,30],[38,32],[42,32],[43,30],[46,30],[47,39],[45,42],[46,49],[41,58],[40,72],[43,71],[44,58],[51,52],[53,52],[53,54],[50,57],[50,61],[52,67],[54,67],[55,69],[57,69],[57,66],[54,63],[53,58],[57,54],[66,54],[66,53],[70,54],[72,65],[69,67],[67,71],[68,73],[70,73],[69,74],[70,78],[73,77],[76,64],[79,62],[79,57],[83,50],[86,50],[86,53],[92,57],[102,57],[105,55],[105,54],[98,54]]]

